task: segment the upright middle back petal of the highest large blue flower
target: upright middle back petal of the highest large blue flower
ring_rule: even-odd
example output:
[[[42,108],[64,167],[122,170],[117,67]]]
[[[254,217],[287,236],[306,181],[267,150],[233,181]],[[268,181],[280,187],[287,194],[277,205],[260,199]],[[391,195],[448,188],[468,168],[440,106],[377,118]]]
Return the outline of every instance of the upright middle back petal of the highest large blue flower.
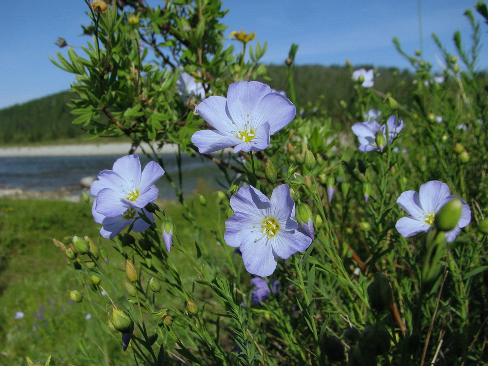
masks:
[[[271,88],[259,81],[238,81],[227,90],[227,113],[236,124],[252,121],[257,116],[258,105]]]

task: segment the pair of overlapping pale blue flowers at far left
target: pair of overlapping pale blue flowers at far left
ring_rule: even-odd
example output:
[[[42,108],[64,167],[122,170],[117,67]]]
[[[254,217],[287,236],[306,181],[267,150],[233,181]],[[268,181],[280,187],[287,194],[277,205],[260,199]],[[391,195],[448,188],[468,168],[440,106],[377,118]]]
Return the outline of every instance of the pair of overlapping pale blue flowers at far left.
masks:
[[[127,225],[134,232],[147,229],[153,222],[152,213],[144,209],[158,197],[154,185],[164,174],[156,162],[149,162],[141,173],[137,155],[127,155],[114,163],[112,170],[102,170],[93,182],[91,194],[96,196],[92,206],[95,222],[102,224],[100,234],[113,239]]]

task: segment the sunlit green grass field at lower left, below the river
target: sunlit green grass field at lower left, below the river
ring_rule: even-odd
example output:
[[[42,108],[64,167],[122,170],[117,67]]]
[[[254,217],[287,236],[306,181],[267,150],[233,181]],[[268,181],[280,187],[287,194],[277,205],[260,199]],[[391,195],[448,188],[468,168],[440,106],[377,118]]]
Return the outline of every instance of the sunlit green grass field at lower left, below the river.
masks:
[[[199,220],[213,225],[206,212],[215,209],[214,196],[207,200],[207,207],[196,199],[190,199],[188,204],[195,206]],[[161,206],[175,226],[182,228],[182,241],[191,244],[193,232],[184,224],[180,206],[171,202]],[[224,217],[220,219],[223,221]],[[69,300],[68,291],[77,288],[79,281],[52,243],[52,238],[62,239],[65,235],[98,238],[86,203],[0,199],[0,364],[25,365],[25,356],[43,364],[53,354],[51,365],[65,365],[61,361],[110,365],[103,355],[106,353],[115,365],[133,365],[129,353],[122,352],[120,333],[111,332],[106,326],[92,326],[98,322],[106,325],[106,314],[92,308],[88,301],[73,304]],[[110,241],[102,243],[109,249],[109,261],[123,262],[119,253],[110,250]],[[193,268],[178,251],[171,254],[191,285]],[[77,289],[85,296],[101,296],[100,291]],[[17,312],[22,312],[23,318],[15,319]]]

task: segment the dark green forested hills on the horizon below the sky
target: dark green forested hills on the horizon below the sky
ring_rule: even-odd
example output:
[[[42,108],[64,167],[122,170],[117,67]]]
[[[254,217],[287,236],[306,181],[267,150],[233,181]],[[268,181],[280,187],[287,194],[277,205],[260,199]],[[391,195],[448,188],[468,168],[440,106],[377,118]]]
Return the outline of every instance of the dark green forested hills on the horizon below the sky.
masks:
[[[288,92],[285,67],[268,65],[271,80],[261,81],[274,89]],[[392,93],[404,105],[410,104],[413,76],[408,71],[394,68],[379,68],[378,72],[381,75],[375,78],[374,88]],[[341,114],[339,102],[344,100],[348,103],[354,95],[351,71],[345,66],[296,66],[293,79],[298,109],[312,103],[312,107],[325,108],[332,118]],[[71,108],[66,105],[75,98],[73,93],[61,92],[1,109],[0,143],[52,142],[84,136],[81,125],[71,123],[77,116],[72,115]]]

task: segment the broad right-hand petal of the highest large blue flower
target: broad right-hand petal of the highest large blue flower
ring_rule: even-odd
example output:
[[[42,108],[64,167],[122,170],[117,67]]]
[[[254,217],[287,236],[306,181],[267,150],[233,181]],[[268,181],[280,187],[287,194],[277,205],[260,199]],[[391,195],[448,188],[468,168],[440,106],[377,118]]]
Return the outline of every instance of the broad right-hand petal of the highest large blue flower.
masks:
[[[269,134],[273,135],[290,123],[296,113],[295,105],[288,98],[278,93],[269,93],[259,103],[251,125],[258,126],[268,122]]]

